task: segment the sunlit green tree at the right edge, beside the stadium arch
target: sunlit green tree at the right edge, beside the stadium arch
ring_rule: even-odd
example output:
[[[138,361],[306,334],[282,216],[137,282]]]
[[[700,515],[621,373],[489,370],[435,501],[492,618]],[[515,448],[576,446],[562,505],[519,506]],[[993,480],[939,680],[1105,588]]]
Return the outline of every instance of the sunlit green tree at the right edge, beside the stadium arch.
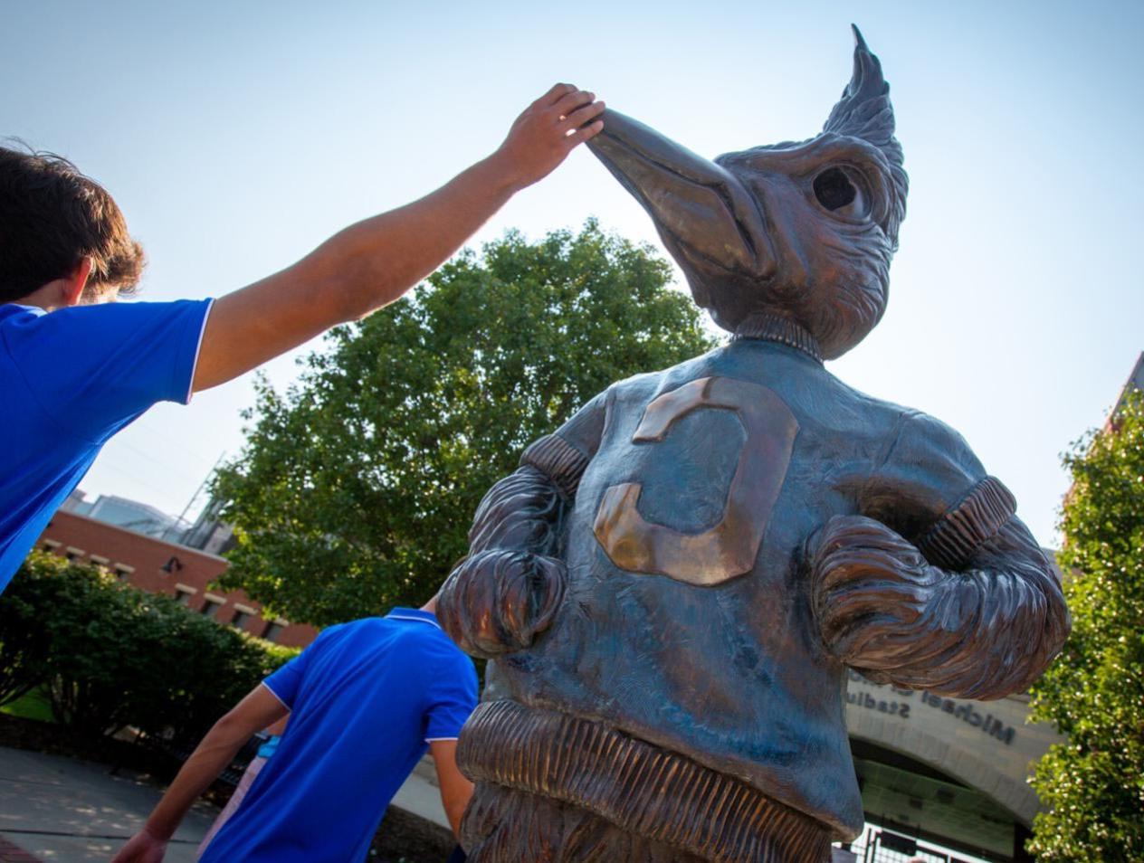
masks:
[[[1033,718],[1068,742],[1036,767],[1049,808],[1040,861],[1144,861],[1144,397],[1065,456],[1059,560],[1073,616],[1064,652],[1033,687]]]

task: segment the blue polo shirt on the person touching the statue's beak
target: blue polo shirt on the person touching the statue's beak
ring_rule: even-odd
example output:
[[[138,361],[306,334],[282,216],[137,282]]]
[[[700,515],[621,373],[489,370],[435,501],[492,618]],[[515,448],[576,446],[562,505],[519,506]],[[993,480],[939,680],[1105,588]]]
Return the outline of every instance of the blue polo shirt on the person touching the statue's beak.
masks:
[[[190,401],[209,307],[0,305],[0,592],[108,439]]]

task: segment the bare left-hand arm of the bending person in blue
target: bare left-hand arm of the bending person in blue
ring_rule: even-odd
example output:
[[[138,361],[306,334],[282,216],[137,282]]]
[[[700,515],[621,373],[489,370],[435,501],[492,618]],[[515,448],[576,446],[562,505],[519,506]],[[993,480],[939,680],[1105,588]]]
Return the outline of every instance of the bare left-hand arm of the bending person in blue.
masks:
[[[157,863],[186,810],[229,765],[251,736],[287,716],[280,701],[260,684],[214,724],[151,812],[143,829],[112,863]]]

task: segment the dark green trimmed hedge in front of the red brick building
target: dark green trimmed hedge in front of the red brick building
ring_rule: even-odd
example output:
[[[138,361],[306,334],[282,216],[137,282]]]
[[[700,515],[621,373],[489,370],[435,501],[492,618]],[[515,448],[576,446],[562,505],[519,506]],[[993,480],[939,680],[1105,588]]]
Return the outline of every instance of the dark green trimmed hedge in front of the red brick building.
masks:
[[[0,597],[0,639],[3,701],[42,684],[61,722],[188,742],[296,653],[39,552]]]

